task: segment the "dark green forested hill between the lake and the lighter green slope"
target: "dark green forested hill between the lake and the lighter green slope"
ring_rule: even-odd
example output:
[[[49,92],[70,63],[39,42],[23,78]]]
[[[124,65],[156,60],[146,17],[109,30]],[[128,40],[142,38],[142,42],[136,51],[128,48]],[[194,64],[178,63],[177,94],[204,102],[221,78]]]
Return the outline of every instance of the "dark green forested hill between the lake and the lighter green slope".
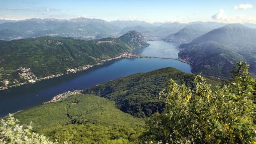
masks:
[[[159,91],[166,88],[172,78],[177,83],[193,86],[194,75],[174,68],[164,68],[147,73],[138,73],[109,81],[85,90],[85,94],[95,94],[115,102],[117,108],[136,117],[150,116],[162,112],[164,99],[159,99]],[[212,85],[220,81],[209,79]]]

